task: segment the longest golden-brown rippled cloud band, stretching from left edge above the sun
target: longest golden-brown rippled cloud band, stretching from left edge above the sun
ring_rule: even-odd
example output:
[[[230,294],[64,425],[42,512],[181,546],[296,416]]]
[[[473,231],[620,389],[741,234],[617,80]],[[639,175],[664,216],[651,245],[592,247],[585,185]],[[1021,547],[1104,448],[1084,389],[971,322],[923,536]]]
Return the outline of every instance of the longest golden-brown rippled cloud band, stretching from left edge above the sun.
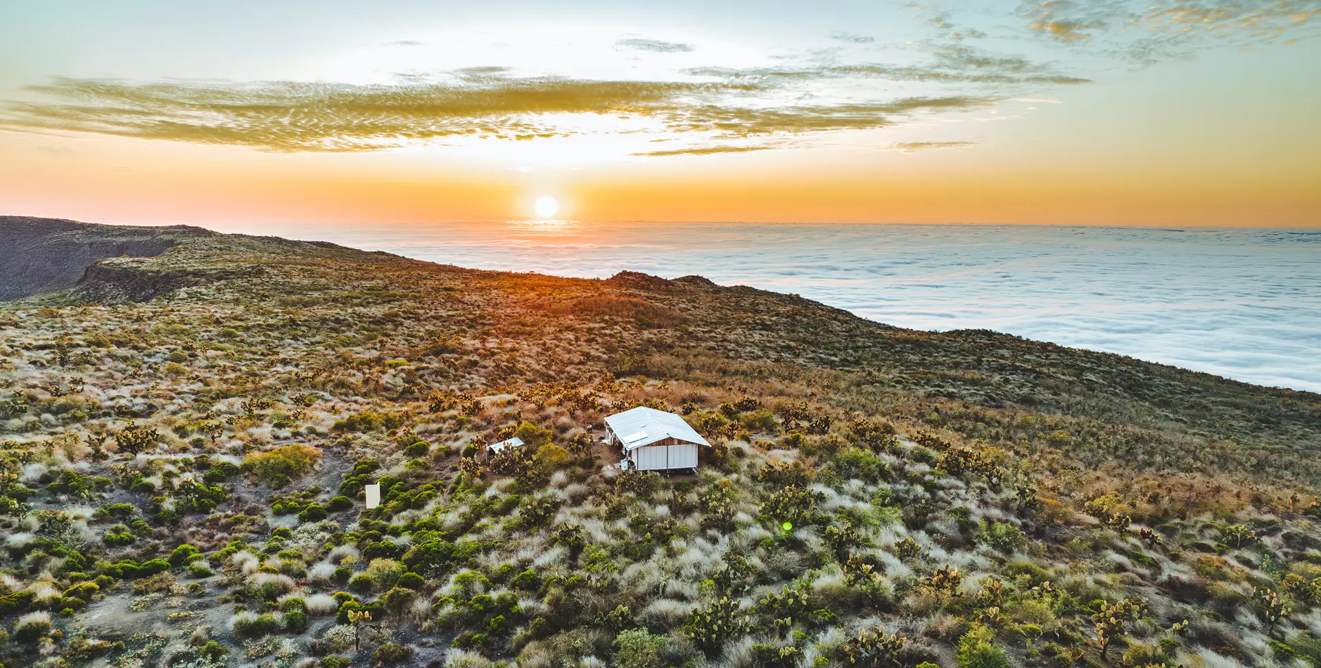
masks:
[[[687,81],[593,81],[513,77],[503,67],[448,73],[444,81],[408,79],[392,86],[306,82],[131,83],[57,78],[29,87],[38,102],[12,102],[0,127],[92,132],[125,137],[247,145],[273,152],[361,152],[454,136],[531,140],[581,132],[561,120],[609,115],[659,125],[687,144],[646,154],[708,154],[731,139],[892,127],[914,112],[964,111],[1007,92],[832,99],[811,95],[804,82],[823,78],[935,83],[1070,83],[1025,62],[935,51],[937,70],[882,65],[795,70],[701,69]],[[970,71],[964,71],[970,70]],[[793,103],[786,103],[793,100]],[[618,129],[626,132],[627,129]]]

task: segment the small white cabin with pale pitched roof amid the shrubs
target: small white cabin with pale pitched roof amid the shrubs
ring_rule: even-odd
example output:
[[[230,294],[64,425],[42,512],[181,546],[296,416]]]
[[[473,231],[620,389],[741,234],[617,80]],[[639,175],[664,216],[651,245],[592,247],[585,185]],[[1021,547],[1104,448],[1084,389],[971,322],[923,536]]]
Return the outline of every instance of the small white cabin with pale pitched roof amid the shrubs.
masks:
[[[605,418],[608,442],[618,442],[620,463],[635,471],[697,470],[697,448],[711,444],[683,417],[638,407]]]

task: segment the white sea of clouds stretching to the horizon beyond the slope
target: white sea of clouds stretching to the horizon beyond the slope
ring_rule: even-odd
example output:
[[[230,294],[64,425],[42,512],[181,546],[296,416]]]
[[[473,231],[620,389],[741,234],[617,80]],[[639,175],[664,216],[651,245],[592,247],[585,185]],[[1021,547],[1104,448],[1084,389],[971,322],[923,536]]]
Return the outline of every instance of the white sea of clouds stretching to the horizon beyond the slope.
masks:
[[[275,234],[482,269],[697,273],[902,327],[992,329],[1321,392],[1321,231],[473,222]]]

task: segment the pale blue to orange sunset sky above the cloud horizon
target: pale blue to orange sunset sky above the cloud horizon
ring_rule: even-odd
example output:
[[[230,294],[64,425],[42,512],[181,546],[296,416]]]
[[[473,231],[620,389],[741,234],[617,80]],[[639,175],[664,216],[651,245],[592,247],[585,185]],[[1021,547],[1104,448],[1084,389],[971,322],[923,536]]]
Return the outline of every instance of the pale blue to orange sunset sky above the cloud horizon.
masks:
[[[1321,0],[3,16],[3,214],[1321,226]]]

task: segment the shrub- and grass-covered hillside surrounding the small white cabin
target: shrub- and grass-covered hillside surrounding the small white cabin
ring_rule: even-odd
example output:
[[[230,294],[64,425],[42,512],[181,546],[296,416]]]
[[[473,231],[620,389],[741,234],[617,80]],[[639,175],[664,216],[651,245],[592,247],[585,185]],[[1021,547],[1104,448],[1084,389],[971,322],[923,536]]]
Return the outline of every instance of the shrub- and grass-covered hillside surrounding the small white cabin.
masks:
[[[1321,664],[1318,395],[696,276],[0,251],[5,665]],[[609,466],[642,404],[697,475]]]

